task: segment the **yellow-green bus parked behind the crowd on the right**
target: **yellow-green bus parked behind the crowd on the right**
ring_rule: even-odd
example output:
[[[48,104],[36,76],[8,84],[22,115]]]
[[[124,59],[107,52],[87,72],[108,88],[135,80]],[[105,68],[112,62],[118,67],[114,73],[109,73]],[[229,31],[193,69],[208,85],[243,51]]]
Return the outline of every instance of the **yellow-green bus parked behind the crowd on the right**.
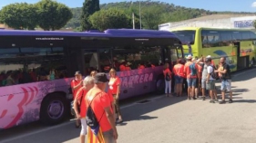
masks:
[[[217,66],[224,56],[230,71],[249,68],[255,62],[256,34],[251,30],[182,27],[170,32],[179,37],[185,56],[210,55]]]

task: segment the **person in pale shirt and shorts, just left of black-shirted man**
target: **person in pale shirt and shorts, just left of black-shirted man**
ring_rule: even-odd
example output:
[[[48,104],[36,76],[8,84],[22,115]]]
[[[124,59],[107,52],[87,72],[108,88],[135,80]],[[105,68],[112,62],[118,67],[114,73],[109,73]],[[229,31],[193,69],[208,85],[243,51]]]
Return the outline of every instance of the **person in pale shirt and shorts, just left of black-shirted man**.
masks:
[[[211,59],[207,58],[205,60],[207,65],[207,78],[206,78],[206,89],[210,91],[210,103],[215,103],[214,101],[214,91],[215,91],[215,81],[216,81],[216,72],[211,65]]]

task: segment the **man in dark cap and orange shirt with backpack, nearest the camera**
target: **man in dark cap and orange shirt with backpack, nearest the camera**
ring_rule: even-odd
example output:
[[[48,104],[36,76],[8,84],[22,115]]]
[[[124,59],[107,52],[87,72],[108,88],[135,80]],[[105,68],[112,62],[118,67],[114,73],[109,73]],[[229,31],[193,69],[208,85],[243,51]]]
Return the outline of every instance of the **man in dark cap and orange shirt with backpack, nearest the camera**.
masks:
[[[98,142],[116,143],[118,131],[116,129],[111,99],[105,92],[108,78],[103,72],[95,76],[94,87],[87,92],[87,126],[88,141],[97,139]],[[102,138],[101,138],[102,137]]]

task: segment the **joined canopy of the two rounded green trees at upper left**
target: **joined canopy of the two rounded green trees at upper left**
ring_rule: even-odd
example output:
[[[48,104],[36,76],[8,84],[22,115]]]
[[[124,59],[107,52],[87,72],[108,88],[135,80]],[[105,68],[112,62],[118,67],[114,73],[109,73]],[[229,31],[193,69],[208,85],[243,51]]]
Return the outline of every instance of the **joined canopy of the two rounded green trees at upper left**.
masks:
[[[15,3],[0,11],[0,22],[14,29],[34,30],[38,25],[44,30],[56,30],[71,18],[71,10],[53,0],[41,0],[35,5]]]

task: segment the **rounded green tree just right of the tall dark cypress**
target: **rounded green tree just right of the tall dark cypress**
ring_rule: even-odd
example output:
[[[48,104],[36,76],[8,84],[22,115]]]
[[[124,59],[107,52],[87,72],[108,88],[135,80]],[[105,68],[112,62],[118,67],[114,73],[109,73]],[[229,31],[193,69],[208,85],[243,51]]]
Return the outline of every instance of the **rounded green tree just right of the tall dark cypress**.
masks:
[[[91,24],[100,31],[108,28],[128,28],[131,21],[124,11],[116,8],[100,10],[89,17]]]

